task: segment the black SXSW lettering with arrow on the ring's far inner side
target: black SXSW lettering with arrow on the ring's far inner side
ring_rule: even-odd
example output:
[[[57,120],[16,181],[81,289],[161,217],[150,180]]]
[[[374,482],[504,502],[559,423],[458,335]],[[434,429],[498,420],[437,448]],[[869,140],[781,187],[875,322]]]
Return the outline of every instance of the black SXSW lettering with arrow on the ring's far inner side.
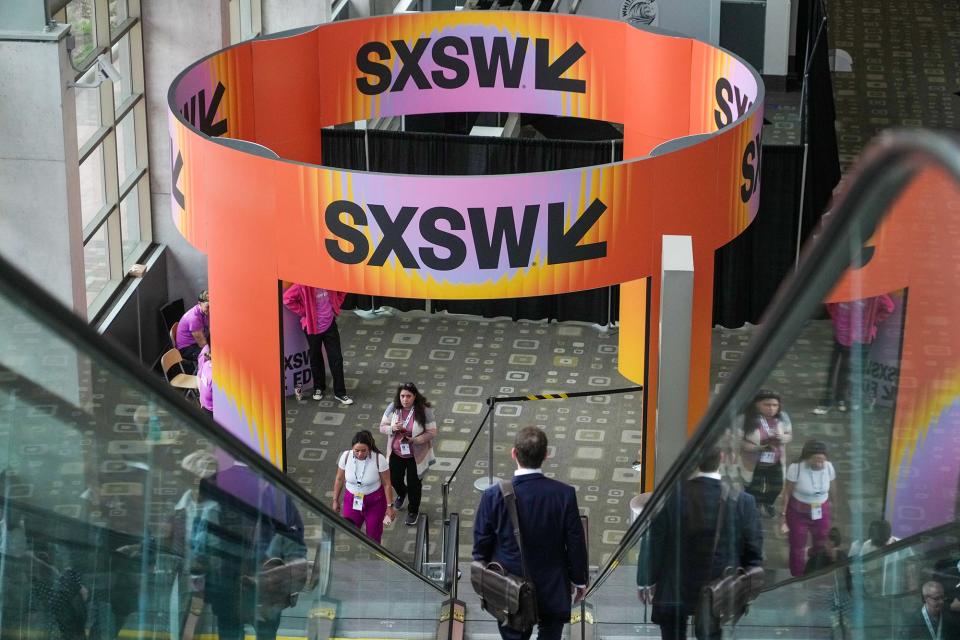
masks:
[[[516,38],[511,55],[506,36],[495,36],[487,50],[486,39],[474,36],[465,40],[457,36],[418,38],[410,47],[403,40],[368,42],[357,51],[357,69],[365,74],[357,78],[357,89],[368,96],[386,91],[403,91],[408,82],[417,89],[459,89],[467,84],[471,72],[476,73],[477,84],[483,88],[501,86],[517,89],[523,79],[523,63],[530,48],[529,38]],[[537,38],[534,43],[534,86],[540,91],[570,91],[586,93],[585,80],[562,77],[584,56],[579,42],[550,62],[550,41]],[[429,75],[423,70],[425,57],[438,67]],[[397,73],[384,64],[396,57]],[[473,66],[468,61],[473,61]]]

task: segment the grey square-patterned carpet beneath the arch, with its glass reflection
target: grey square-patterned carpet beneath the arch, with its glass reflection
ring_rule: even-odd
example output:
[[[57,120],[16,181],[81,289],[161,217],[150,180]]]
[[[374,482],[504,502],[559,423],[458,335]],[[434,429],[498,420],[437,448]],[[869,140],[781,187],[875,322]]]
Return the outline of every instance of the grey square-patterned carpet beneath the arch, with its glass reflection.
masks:
[[[338,324],[347,387],[356,404],[341,407],[327,400],[288,403],[288,470],[297,482],[329,501],[335,469],[327,461],[348,448],[357,429],[376,428],[398,382],[414,380],[434,402],[440,429],[435,440],[438,463],[425,477],[421,509],[430,517],[430,539],[435,542],[440,539],[440,485],[479,427],[488,395],[601,391],[630,384],[616,373],[616,333],[590,326],[472,320],[420,312],[377,320],[344,314]],[[715,330],[714,391],[740,361],[753,331],[750,326]],[[829,323],[811,321],[766,386],[781,390],[784,408],[792,417],[796,435],[788,450],[791,459],[805,439],[827,441],[833,445],[831,457],[845,503],[857,513],[878,514],[889,417],[882,410],[864,420],[851,414],[811,413],[824,386],[830,345]],[[360,385],[360,380],[365,382]],[[495,419],[494,473],[505,476],[512,471],[509,448],[518,425],[542,426],[551,442],[546,472],[578,488],[580,506],[589,518],[590,561],[602,566],[629,523],[628,502],[638,483],[638,472],[630,464],[641,443],[640,415],[640,398],[634,394],[500,405]],[[451,485],[450,510],[460,512],[463,520],[461,557],[469,555],[472,518],[479,499],[473,481],[487,472],[484,430]],[[850,539],[848,513],[838,510],[835,519]],[[786,566],[786,542],[774,524],[765,520],[767,556],[771,568],[782,569]],[[412,557],[414,539],[415,528],[395,523],[385,532],[384,545],[402,557]]]

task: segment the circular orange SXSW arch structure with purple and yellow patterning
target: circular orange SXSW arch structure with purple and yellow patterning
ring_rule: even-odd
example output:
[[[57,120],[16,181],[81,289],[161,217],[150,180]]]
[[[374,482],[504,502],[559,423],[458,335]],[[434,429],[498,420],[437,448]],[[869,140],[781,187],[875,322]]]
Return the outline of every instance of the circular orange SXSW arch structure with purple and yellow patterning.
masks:
[[[277,305],[287,280],[464,299],[621,283],[620,369],[645,385],[649,422],[658,353],[646,325],[659,283],[647,279],[672,234],[693,238],[692,424],[707,400],[714,251],[757,213],[762,101],[757,73],[727,52],[560,14],[338,22],[195,63],[169,92],[173,216],[209,257],[217,420],[283,465]],[[319,165],[323,127],[455,111],[619,122],[627,159],[501,176]]]

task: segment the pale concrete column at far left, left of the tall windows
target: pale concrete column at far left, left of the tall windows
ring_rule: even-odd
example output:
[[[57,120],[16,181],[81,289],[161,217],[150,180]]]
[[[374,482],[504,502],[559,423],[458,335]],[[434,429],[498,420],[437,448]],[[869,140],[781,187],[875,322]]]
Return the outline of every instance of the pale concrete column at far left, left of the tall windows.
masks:
[[[0,254],[86,318],[67,30],[0,32]]]

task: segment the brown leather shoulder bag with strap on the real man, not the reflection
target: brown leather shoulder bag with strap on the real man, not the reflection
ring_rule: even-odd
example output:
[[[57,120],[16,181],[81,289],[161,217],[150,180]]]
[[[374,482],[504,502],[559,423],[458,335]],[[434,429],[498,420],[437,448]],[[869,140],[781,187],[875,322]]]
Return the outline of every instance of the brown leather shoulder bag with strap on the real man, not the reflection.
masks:
[[[510,514],[517,546],[520,548],[520,565],[523,576],[515,576],[499,562],[474,560],[470,565],[470,583],[480,596],[480,607],[497,619],[504,627],[526,633],[537,624],[537,592],[533,581],[528,578],[526,560],[523,553],[523,539],[520,537],[520,521],[517,516],[517,496],[513,493],[513,483],[500,481]]]

